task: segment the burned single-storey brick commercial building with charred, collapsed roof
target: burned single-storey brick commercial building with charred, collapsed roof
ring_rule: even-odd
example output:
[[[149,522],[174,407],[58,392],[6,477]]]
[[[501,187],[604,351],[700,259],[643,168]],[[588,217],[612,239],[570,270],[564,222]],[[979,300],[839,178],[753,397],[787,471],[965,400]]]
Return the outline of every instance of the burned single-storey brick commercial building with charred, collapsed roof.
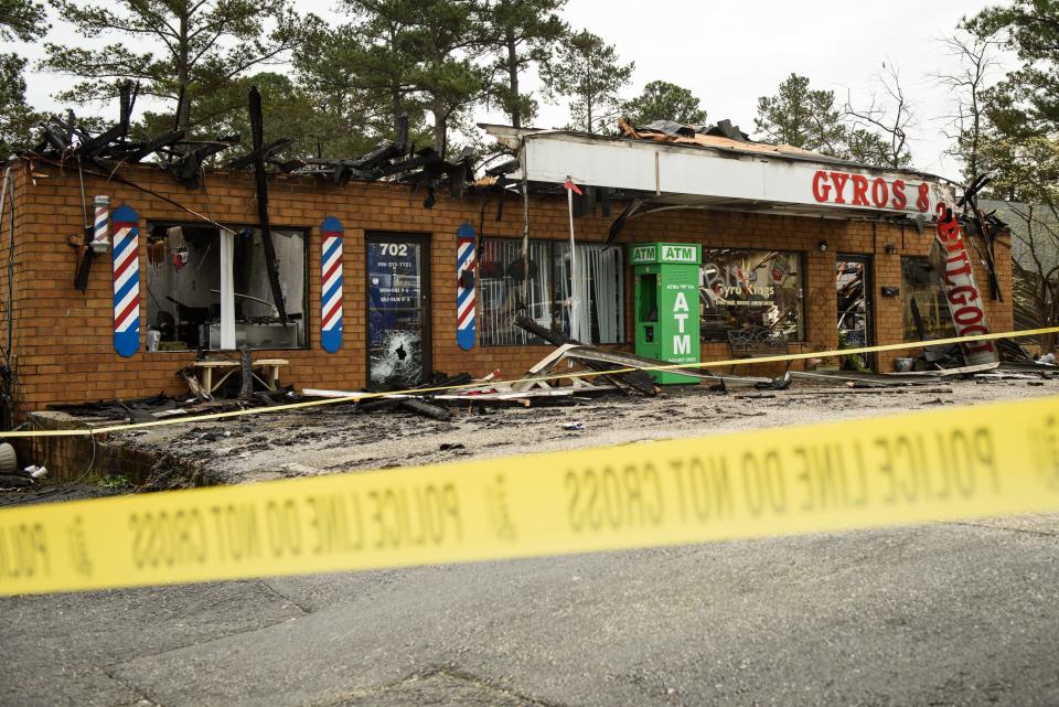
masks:
[[[620,138],[485,129],[511,160],[477,182],[466,160],[402,146],[298,164],[258,146],[183,172],[186,152],[62,159],[62,144],[12,162],[0,332],[13,405],[183,394],[179,372],[242,346],[296,388],[514,377],[552,350],[520,315],[632,351],[638,322],[662,315],[635,307],[633,251],[650,244],[695,246],[700,361],[751,355],[740,332],[801,353],[953,331],[927,259],[939,204],[956,208],[938,178],[751,142],[727,124]],[[1006,236],[975,248],[983,310],[1009,330]],[[898,355],[860,363],[892,371]]]

